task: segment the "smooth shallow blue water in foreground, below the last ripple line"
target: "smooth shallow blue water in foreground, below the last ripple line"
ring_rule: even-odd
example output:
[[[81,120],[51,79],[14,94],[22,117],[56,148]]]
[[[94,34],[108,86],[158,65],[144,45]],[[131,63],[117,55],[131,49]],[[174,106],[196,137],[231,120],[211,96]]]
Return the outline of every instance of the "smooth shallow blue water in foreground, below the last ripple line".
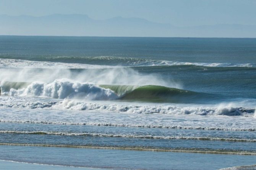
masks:
[[[216,170],[247,165],[255,156],[58,147],[0,146],[0,159],[37,164],[148,170]],[[40,153],[40,154],[38,154]],[[58,158],[58,159],[56,159]],[[184,162],[186,160],[186,163]]]

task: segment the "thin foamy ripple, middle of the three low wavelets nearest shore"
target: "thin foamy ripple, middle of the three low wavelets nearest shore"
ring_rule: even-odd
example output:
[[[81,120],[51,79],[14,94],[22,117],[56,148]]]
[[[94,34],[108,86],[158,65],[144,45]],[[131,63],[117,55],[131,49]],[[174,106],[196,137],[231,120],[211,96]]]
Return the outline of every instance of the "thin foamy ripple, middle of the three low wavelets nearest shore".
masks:
[[[45,132],[45,131],[0,131],[0,133],[21,135],[58,135],[58,136],[89,136],[109,138],[141,138],[141,139],[163,139],[163,140],[205,140],[205,141],[233,141],[233,142],[256,142],[255,139],[241,138],[218,138],[208,136],[153,136],[153,135],[130,135],[109,133],[75,133],[75,132]]]

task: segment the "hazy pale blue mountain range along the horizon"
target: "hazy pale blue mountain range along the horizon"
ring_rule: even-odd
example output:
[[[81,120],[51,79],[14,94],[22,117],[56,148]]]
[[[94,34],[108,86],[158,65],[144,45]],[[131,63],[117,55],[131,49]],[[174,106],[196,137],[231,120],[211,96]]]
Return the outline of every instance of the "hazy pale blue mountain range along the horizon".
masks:
[[[0,15],[0,35],[251,38],[256,37],[256,26],[217,24],[177,27],[120,16],[95,20],[82,14],[52,14],[40,17]]]

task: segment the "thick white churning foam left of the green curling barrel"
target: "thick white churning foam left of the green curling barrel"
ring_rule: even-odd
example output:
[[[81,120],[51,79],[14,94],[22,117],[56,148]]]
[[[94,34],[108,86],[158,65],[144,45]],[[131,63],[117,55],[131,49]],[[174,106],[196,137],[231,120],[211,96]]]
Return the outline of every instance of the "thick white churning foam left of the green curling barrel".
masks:
[[[36,96],[59,99],[115,99],[118,97],[110,89],[101,88],[92,83],[80,83],[68,79],[55,80],[52,83],[32,82],[26,88],[11,88],[10,91],[2,90],[2,94],[10,96]]]

